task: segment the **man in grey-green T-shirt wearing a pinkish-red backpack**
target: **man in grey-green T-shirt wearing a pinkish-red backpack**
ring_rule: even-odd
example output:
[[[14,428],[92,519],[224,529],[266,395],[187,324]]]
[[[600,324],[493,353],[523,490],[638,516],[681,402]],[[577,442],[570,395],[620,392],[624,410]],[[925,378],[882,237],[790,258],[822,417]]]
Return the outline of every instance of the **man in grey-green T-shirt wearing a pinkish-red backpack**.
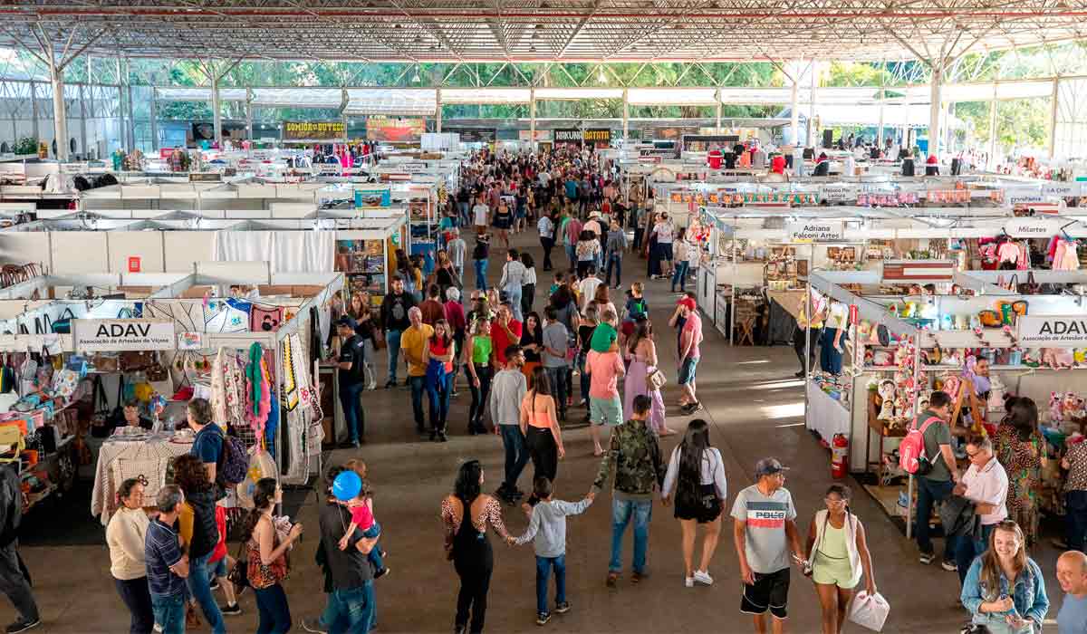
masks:
[[[933,542],[928,536],[928,520],[933,514],[933,506],[951,496],[955,482],[959,481],[959,468],[951,452],[951,430],[947,421],[951,418],[951,397],[942,391],[934,391],[928,399],[928,409],[917,417],[920,428],[930,419],[936,419],[924,432],[925,457],[932,464],[927,473],[917,481],[917,549],[921,550],[921,562],[928,564],[934,559]],[[944,545],[944,570],[954,572],[954,539],[946,539]]]

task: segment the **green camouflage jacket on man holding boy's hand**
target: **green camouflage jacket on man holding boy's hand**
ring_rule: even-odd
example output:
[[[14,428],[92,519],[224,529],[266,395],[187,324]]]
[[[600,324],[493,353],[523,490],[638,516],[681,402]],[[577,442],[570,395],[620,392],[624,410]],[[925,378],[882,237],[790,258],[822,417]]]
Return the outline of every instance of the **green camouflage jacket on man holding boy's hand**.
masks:
[[[612,431],[611,445],[600,461],[592,490],[599,492],[615,470],[614,495],[624,499],[650,499],[653,485],[664,484],[664,462],[657,436],[645,421],[629,420]]]

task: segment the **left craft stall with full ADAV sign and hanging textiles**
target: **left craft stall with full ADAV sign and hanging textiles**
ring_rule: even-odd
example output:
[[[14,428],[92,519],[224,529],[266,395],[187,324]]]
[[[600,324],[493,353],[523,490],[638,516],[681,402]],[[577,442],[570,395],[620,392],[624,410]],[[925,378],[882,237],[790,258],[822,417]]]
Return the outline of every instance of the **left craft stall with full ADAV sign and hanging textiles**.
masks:
[[[267,262],[200,262],[191,270],[120,281],[115,274],[59,276],[73,289],[71,299],[10,320],[13,332],[42,332],[13,335],[10,347],[25,350],[45,338],[52,347],[39,358],[48,355],[59,366],[46,381],[36,377],[15,410],[82,390],[72,401],[80,415],[70,431],[83,432],[85,461],[97,453],[91,512],[103,525],[122,480],[142,474],[157,489],[171,459],[189,451],[185,408],[196,397],[212,402],[216,422],[250,452],[250,477],[230,487],[232,506],[251,505],[253,474],[304,484],[320,472],[323,425],[332,424],[320,412],[334,410],[321,408],[332,393],[316,387],[316,368],[342,274],[272,273]],[[122,283],[141,296],[84,290],[111,291]],[[255,288],[259,297],[232,297],[232,287]],[[126,424],[122,405],[128,401],[136,401],[141,424]]]

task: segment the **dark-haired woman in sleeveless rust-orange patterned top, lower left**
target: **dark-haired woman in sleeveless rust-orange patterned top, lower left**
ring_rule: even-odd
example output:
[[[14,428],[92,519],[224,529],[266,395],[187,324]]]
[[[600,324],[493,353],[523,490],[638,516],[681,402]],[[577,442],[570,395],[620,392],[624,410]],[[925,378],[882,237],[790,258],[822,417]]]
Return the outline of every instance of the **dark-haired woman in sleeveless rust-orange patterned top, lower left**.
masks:
[[[279,582],[287,576],[287,551],[302,534],[302,524],[295,524],[286,538],[279,538],[272,511],[280,501],[283,489],[274,477],[257,481],[253,510],[249,511],[241,532],[249,559],[249,585],[257,595],[261,614],[257,634],[284,634],[290,630],[290,606]]]

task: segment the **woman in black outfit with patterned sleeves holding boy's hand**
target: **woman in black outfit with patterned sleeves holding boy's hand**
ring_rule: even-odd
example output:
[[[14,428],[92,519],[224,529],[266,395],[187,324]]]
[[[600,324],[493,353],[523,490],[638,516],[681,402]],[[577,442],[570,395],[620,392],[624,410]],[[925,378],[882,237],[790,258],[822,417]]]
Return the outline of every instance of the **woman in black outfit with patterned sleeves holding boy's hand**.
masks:
[[[502,522],[498,500],[483,493],[483,467],[468,460],[457,473],[453,494],[441,500],[441,522],[446,532],[446,557],[452,560],[461,589],[457,596],[457,634],[479,634],[487,616],[487,592],[495,569],[495,554],[487,539],[488,525],[502,539],[510,534]],[[468,623],[471,612],[471,625]]]

